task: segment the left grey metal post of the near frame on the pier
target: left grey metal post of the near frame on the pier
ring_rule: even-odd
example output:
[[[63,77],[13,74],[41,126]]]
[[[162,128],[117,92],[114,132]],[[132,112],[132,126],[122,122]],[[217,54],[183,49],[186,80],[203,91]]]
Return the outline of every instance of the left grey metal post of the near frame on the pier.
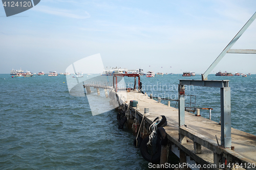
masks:
[[[185,125],[185,86],[179,84],[179,127]]]

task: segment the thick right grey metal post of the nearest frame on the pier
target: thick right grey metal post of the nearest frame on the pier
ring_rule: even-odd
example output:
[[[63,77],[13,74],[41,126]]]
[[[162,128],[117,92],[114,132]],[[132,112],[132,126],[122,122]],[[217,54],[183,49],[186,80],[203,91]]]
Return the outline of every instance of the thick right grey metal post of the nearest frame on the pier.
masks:
[[[230,87],[221,88],[221,145],[231,148]]]

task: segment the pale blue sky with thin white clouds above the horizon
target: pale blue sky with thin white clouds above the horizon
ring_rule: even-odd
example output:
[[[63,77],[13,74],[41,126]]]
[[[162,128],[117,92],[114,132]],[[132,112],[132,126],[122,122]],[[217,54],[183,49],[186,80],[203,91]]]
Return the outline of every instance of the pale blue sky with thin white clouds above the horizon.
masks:
[[[96,54],[104,67],[203,74],[255,7],[255,0],[41,0],[6,17],[1,6],[0,74],[65,72]],[[232,49],[256,49],[256,21]],[[255,64],[255,54],[226,54],[211,74],[256,74]]]

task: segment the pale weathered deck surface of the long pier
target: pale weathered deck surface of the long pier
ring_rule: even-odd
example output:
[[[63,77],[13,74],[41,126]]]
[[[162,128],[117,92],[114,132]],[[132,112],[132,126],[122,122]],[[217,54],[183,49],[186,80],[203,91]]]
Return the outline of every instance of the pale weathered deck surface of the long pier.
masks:
[[[139,110],[137,110],[137,113],[141,116],[144,114],[144,108],[149,108],[150,115],[146,117],[146,121],[150,124],[152,124],[153,120],[157,116],[165,115],[168,125],[164,127],[164,129],[167,133],[168,139],[174,144],[178,145],[180,149],[182,149],[196,162],[200,164],[214,163],[214,154],[211,150],[202,147],[202,153],[195,154],[194,142],[192,140],[188,139],[188,142],[185,144],[181,144],[178,141],[178,109],[158,103],[157,101],[150,99],[150,97],[148,97],[147,95],[138,93],[137,91],[131,91],[127,93],[127,103],[125,105],[127,106],[131,100],[138,101]],[[136,108],[131,109],[136,110]],[[220,143],[221,126],[218,123],[206,119],[202,116],[195,116],[195,114],[193,113],[185,112],[185,124],[187,125],[188,129],[207,137],[213,143],[215,142],[215,145],[217,145],[217,140],[215,136],[217,135]],[[236,156],[238,159],[256,164],[256,136],[232,128],[231,138],[234,151],[231,151],[231,149],[224,150],[226,150],[227,153]]]

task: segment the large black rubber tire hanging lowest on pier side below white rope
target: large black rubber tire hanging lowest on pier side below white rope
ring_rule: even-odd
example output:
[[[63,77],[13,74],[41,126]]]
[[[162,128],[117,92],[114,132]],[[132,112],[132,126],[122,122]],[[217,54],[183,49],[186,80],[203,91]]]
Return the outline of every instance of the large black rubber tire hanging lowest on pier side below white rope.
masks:
[[[148,142],[148,140],[150,140],[150,136],[147,136],[145,137],[141,144],[140,144],[140,153],[142,155],[142,157],[148,161],[148,162],[157,162],[160,160],[160,157],[161,157],[161,144],[160,144],[160,140],[157,140],[157,153],[155,155],[150,155],[148,152],[147,152],[147,145],[146,143]]]

